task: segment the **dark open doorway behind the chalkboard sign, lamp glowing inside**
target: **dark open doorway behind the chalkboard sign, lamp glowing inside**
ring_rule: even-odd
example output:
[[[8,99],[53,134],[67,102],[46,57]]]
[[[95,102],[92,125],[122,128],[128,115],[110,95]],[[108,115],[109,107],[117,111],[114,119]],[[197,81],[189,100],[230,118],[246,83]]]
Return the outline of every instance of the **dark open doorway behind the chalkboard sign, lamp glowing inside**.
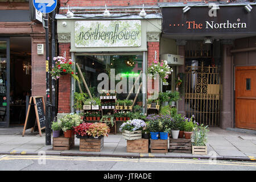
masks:
[[[31,96],[31,38],[10,38],[10,125],[24,125]]]

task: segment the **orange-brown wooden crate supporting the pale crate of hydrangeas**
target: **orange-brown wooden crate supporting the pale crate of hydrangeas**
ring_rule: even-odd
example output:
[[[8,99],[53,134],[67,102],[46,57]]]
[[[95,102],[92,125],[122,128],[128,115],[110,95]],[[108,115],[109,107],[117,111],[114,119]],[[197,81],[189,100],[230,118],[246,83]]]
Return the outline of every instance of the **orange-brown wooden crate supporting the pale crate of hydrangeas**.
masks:
[[[148,139],[127,140],[127,152],[148,153]]]

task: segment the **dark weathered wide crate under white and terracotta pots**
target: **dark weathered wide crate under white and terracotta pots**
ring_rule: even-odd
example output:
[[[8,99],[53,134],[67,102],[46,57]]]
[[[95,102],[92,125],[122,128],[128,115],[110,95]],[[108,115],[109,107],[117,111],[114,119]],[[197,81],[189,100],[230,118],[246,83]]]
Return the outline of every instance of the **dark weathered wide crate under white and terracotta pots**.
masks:
[[[192,152],[191,139],[170,138],[169,152],[190,153],[191,154],[191,152]]]

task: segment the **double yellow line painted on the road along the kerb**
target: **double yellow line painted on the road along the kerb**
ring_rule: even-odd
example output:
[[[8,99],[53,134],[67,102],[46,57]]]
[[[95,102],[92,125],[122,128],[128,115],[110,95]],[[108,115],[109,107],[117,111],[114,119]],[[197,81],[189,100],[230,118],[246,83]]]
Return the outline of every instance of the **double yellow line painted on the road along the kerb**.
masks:
[[[179,163],[179,164],[208,164],[208,165],[222,165],[222,166],[251,166],[255,167],[255,162],[229,162],[224,160],[207,159],[156,159],[156,158],[112,158],[112,157],[74,157],[74,156],[36,156],[36,155],[6,155],[0,158],[2,160],[73,160],[73,161],[90,161],[90,162],[143,162],[143,163]]]

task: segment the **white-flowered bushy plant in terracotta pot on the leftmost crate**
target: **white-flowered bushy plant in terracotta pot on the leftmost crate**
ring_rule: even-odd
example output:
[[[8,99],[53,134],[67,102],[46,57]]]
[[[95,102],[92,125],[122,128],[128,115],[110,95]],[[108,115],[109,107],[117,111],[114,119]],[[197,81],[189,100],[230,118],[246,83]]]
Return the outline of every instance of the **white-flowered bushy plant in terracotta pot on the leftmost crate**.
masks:
[[[72,137],[73,127],[80,125],[82,119],[78,114],[67,114],[60,118],[60,128],[64,132],[64,137]]]

